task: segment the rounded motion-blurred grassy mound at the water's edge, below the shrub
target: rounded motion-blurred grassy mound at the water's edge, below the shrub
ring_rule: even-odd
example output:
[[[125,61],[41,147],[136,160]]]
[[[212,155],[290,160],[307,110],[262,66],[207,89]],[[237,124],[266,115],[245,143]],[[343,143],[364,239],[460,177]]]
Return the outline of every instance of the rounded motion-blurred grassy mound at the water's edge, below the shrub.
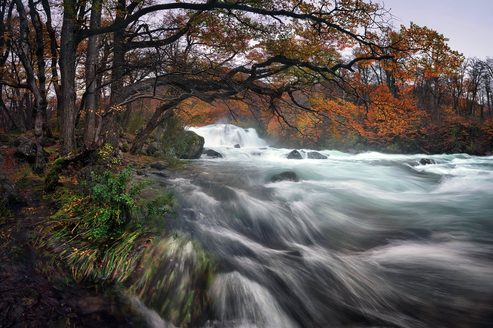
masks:
[[[202,327],[211,319],[207,294],[215,262],[200,246],[175,235],[149,247],[134,288],[141,299],[177,327]]]

